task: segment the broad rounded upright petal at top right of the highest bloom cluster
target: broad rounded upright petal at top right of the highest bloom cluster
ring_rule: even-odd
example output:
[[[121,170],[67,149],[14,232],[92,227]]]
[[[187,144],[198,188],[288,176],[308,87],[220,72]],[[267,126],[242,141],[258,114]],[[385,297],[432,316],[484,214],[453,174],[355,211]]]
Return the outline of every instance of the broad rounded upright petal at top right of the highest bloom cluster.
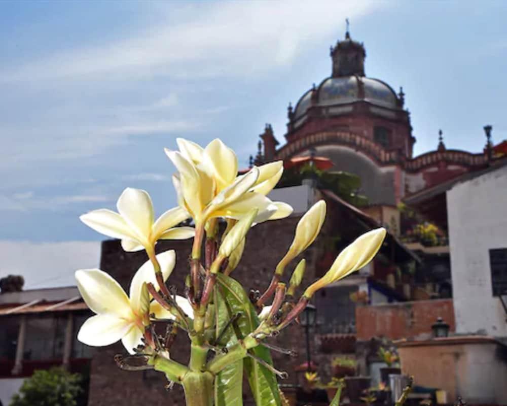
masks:
[[[238,174],[238,158],[234,151],[221,140],[215,138],[204,149],[203,159],[209,160],[213,167],[213,176],[217,190],[229,186]]]

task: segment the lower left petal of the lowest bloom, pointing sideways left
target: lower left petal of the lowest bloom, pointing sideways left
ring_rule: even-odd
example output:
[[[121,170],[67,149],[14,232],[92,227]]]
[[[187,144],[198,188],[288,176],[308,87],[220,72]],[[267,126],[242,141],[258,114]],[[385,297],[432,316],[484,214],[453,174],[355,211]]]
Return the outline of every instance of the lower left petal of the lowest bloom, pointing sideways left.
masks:
[[[99,314],[86,320],[78,332],[78,340],[93,347],[108,346],[121,340],[132,327],[132,322],[108,314]]]

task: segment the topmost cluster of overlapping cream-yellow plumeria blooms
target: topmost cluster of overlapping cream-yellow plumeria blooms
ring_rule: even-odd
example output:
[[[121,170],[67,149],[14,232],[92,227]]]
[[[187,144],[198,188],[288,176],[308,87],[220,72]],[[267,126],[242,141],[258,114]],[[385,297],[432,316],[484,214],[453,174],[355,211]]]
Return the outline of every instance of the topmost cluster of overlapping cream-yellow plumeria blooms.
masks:
[[[240,219],[253,207],[259,209],[256,224],[293,212],[291,206],[266,197],[282,176],[282,161],[254,166],[237,176],[236,154],[221,140],[211,141],[206,148],[182,138],[176,142],[179,152],[165,152],[179,172],[173,176],[178,204],[196,221],[202,217]]]

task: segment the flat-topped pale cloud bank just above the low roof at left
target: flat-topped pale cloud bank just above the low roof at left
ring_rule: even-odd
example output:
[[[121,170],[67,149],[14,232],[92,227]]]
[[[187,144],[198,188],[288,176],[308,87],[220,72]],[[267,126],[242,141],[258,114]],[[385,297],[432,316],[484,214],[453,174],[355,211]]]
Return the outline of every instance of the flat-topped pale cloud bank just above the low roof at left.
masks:
[[[24,289],[75,286],[76,269],[98,267],[100,243],[0,240],[0,254],[0,277],[22,275],[25,278]]]

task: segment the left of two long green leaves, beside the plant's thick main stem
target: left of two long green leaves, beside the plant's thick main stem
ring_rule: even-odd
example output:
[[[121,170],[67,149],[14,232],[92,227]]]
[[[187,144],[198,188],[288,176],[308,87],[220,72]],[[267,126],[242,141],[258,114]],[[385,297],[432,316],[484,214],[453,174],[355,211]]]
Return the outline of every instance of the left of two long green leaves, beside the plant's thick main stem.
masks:
[[[233,316],[227,307],[224,296],[217,287],[213,291],[215,306],[215,337],[218,337],[227,322]],[[238,342],[232,325],[222,334],[218,347],[230,347]],[[243,404],[243,361],[239,360],[227,365],[215,378],[215,406],[241,406]]]

